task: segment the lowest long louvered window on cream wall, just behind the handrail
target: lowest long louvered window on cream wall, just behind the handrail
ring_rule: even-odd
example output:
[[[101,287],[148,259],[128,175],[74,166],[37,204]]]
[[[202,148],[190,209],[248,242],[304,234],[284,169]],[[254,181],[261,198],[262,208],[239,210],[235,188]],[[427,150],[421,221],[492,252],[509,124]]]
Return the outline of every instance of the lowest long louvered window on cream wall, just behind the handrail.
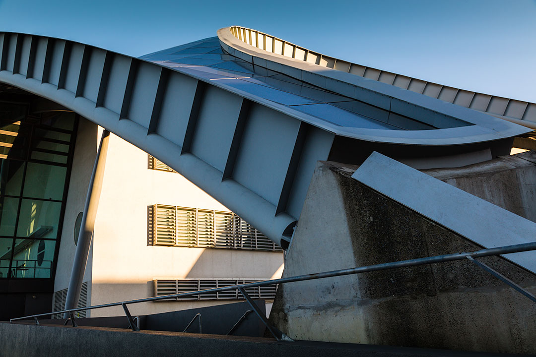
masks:
[[[154,280],[154,295],[161,297],[185,292],[207,290],[216,287],[233,286],[237,284],[253,283],[259,280],[239,280],[239,279],[183,279],[183,280]],[[277,285],[248,287],[245,292],[252,299],[271,300],[276,297]],[[191,301],[191,300],[244,300],[238,289],[200,293],[191,297],[169,298],[159,301]]]

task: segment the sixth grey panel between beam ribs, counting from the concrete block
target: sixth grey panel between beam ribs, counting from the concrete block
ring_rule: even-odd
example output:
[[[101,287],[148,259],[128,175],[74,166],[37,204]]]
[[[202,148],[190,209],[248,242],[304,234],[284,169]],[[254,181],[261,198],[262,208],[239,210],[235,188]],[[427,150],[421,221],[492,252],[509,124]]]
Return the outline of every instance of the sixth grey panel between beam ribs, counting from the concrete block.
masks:
[[[119,114],[123,105],[126,80],[129,77],[130,58],[114,55],[111,61],[108,85],[104,98],[104,107]]]

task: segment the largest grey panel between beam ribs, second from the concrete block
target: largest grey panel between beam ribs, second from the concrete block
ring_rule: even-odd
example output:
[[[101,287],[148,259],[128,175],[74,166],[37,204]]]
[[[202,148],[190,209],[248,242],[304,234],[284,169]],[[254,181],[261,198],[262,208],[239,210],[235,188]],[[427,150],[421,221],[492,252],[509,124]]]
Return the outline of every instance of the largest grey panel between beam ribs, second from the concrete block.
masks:
[[[300,121],[253,104],[245,124],[233,178],[277,205]]]

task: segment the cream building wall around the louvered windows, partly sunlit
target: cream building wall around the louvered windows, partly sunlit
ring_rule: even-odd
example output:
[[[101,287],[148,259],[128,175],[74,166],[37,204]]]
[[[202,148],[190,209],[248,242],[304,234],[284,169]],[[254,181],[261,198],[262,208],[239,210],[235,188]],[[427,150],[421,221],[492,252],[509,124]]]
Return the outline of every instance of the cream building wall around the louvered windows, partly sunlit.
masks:
[[[84,207],[98,145],[96,127],[92,125],[86,120],[80,124],[55,291],[67,287],[69,282],[75,251],[74,222]],[[152,297],[154,279],[280,277],[283,268],[280,252],[152,246],[147,232],[147,206],[155,203],[228,211],[180,174],[147,169],[144,151],[110,134],[84,280],[90,282],[88,304]],[[148,302],[133,305],[130,310],[132,314],[145,315],[228,302]],[[267,304],[267,309],[270,306]],[[121,307],[91,312],[92,317],[122,314]]]

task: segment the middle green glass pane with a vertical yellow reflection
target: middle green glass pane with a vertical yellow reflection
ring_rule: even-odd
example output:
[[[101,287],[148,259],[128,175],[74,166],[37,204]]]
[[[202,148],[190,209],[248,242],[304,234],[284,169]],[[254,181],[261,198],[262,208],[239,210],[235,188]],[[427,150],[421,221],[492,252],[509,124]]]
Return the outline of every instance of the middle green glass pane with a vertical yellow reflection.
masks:
[[[23,200],[17,236],[56,239],[61,207],[61,202]]]

